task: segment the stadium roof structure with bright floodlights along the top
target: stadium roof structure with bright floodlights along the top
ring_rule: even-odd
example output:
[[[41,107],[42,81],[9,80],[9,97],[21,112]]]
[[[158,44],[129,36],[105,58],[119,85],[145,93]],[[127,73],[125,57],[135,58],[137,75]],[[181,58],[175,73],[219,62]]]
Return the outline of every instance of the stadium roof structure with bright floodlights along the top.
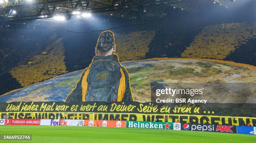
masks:
[[[171,8],[196,12],[205,3],[228,7],[232,0],[0,0],[0,16],[10,20],[34,20],[74,11],[102,13],[116,17],[156,19]]]

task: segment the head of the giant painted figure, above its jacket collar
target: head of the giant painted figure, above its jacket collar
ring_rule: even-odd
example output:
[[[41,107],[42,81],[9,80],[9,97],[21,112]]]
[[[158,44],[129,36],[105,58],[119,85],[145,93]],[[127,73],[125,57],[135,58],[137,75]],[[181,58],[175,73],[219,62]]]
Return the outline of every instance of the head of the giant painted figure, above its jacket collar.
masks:
[[[97,56],[109,56],[113,53],[115,53],[115,35],[114,32],[106,30],[100,33],[95,54]]]

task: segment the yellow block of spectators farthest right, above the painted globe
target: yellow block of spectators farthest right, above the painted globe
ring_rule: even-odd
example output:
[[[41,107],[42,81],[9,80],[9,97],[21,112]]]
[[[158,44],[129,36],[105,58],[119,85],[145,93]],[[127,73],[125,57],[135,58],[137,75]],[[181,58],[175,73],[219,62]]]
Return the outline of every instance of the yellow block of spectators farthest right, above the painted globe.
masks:
[[[248,39],[256,37],[256,22],[210,25],[195,37],[182,57],[224,59]]]

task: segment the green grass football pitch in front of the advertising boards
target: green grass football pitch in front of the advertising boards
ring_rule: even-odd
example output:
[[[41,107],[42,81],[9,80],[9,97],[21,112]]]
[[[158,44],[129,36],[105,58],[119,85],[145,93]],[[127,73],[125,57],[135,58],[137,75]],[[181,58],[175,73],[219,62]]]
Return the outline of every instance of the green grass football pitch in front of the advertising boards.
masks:
[[[3,143],[256,143],[234,133],[82,126],[0,126],[0,134],[31,134],[32,141]]]

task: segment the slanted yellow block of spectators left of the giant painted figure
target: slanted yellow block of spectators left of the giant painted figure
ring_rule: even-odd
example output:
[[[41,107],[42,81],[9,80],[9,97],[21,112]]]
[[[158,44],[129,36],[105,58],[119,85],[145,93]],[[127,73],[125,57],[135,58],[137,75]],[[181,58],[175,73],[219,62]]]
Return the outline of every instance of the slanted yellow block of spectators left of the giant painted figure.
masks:
[[[58,39],[28,64],[15,67],[10,73],[21,86],[28,86],[67,73],[64,58],[62,39]]]

